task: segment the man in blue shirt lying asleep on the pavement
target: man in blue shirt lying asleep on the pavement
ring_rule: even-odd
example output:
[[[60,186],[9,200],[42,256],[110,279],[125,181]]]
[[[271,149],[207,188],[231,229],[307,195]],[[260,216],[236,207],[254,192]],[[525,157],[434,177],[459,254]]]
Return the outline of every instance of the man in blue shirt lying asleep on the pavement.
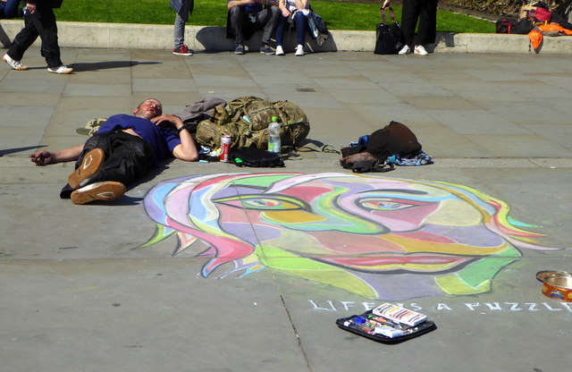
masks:
[[[174,124],[177,132],[163,124]],[[161,102],[148,98],[132,115],[111,116],[83,145],[40,150],[29,157],[36,165],[77,160],[60,198],[71,199],[74,204],[114,200],[125,193],[125,185],[168,157],[198,160],[197,145],[184,129],[178,116],[163,114]]]

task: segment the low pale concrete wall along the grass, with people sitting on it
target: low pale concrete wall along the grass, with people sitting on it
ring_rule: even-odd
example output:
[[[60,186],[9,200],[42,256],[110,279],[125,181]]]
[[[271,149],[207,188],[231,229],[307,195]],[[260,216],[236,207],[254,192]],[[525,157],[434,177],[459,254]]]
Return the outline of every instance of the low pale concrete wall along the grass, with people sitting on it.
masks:
[[[23,21],[4,20],[0,25],[0,42],[10,45],[21,30]],[[172,25],[130,23],[58,22],[61,47],[171,49]],[[185,39],[190,48],[197,51],[230,51],[231,39],[225,38],[223,27],[188,26]],[[331,30],[322,46],[307,38],[308,47],[314,52],[364,51],[372,52],[375,46],[374,31]],[[293,49],[294,35],[290,35],[285,49]],[[545,37],[538,51],[532,50],[526,35],[500,34],[452,34],[437,36],[434,53],[515,53],[515,54],[572,54],[572,38]],[[36,43],[39,46],[39,40]],[[248,47],[257,50],[260,38],[255,35]]]

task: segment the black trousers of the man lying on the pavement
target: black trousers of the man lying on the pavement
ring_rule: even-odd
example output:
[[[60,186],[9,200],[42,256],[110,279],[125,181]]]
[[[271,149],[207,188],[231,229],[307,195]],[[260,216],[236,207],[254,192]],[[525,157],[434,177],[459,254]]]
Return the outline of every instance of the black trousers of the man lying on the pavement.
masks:
[[[153,149],[145,140],[123,131],[97,133],[88,139],[81,151],[75,169],[78,169],[88,151],[101,148],[105,153],[105,161],[98,173],[89,183],[115,181],[129,185],[131,182],[147,174],[155,165]],[[60,192],[60,198],[69,199],[69,184]]]

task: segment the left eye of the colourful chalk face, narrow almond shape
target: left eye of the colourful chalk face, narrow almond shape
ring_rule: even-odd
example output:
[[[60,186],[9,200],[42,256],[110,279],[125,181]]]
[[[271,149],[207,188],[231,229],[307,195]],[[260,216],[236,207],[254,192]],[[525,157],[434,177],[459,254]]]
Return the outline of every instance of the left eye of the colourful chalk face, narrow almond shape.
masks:
[[[214,199],[214,202],[231,207],[269,211],[296,210],[307,207],[306,203],[299,199],[284,197],[281,195],[246,195]]]

